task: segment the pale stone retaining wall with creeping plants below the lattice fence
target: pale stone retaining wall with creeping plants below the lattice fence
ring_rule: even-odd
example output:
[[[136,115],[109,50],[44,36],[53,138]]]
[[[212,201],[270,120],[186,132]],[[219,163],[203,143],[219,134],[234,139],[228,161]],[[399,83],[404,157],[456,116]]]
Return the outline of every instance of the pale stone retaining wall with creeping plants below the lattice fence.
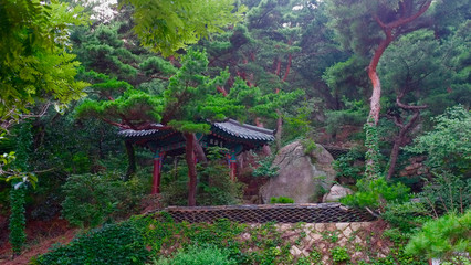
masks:
[[[260,225],[262,224],[249,226],[257,229]],[[381,221],[275,224],[275,227],[284,243],[291,244],[293,264],[302,258],[311,264],[343,264],[335,263],[332,254],[333,250],[341,248],[346,251],[349,262],[357,264],[359,261],[385,257],[391,245],[388,240],[381,237],[383,231],[387,229],[386,223]],[[243,233],[241,239],[250,241],[251,233]],[[249,252],[257,251],[254,248]]]

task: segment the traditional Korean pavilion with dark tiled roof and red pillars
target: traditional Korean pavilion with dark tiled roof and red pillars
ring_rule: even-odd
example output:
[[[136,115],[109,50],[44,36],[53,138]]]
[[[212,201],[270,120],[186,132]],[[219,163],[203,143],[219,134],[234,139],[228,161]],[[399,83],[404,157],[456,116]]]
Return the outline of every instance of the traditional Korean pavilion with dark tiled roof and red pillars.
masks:
[[[155,125],[154,127],[163,127]],[[154,152],[153,194],[160,192],[160,169],[166,156],[178,156],[185,153],[186,140],[181,132],[176,130],[133,130],[125,129],[118,132],[125,140],[144,147]],[[222,123],[212,123],[210,132],[196,134],[200,146],[223,147],[229,150],[226,153],[230,167],[230,177],[236,179],[237,156],[242,151],[260,148],[274,140],[274,131],[253,125],[240,124],[234,119]]]

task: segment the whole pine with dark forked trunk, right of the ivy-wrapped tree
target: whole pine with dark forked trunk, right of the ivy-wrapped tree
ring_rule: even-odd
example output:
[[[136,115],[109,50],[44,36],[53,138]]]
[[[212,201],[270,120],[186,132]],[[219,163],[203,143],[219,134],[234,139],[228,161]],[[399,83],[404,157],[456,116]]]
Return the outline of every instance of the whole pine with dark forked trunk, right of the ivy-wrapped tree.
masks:
[[[453,34],[440,39],[431,30],[415,31],[401,36],[385,52],[388,63],[381,64],[379,72],[385,81],[384,95],[388,99],[385,102],[391,103],[386,104],[386,113],[398,127],[387,178],[393,177],[399,149],[411,141],[409,134],[426,106],[430,105],[428,115],[436,115],[457,104],[471,104],[467,93],[470,70],[463,64],[470,60],[471,42],[462,34],[468,28],[469,22],[462,23]]]

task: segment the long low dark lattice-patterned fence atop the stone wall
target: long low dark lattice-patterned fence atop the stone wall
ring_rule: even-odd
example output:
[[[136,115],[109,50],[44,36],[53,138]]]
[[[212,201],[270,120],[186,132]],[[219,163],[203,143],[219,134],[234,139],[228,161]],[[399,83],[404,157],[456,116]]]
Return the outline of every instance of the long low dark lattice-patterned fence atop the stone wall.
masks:
[[[218,219],[241,223],[347,223],[375,220],[367,211],[346,208],[341,203],[169,206],[164,211],[176,222],[189,223],[213,222]]]

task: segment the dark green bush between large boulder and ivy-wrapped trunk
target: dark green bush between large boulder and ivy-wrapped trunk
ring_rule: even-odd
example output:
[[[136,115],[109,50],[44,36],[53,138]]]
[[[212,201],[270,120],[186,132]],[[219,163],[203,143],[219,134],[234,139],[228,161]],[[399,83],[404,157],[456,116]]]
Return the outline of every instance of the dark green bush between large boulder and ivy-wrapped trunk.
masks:
[[[365,172],[365,166],[355,166],[355,161],[364,159],[365,152],[359,147],[354,147],[346,155],[343,155],[332,162],[332,167],[337,172],[337,178],[360,179]]]

